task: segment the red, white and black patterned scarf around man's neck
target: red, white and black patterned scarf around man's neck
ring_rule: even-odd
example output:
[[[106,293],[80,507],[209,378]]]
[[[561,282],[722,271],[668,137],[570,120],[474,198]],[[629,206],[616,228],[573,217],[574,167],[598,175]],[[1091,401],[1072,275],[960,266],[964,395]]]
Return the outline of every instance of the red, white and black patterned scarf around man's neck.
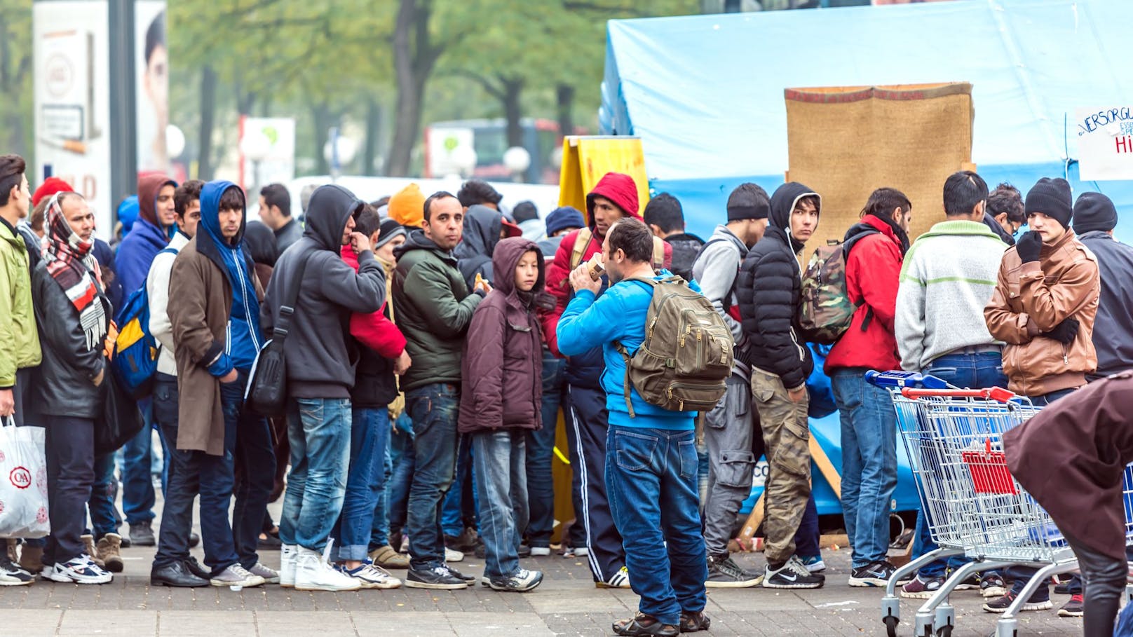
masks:
[[[75,195],[71,195],[75,196]],[[84,241],[71,230],[70,223],[63,216],[59,194],[53,195],[44,213],[44,250],[48,273],[63,289],[75,309],[78,311],[79,323],[86,332],[86,343],[90,349],[102,346],[107,336],[107,313],[99,298],[99,286],[102,284],[102,272],[99,262],[91,250],[94,240]],[[97,284],[95,284],[97,282]]]

